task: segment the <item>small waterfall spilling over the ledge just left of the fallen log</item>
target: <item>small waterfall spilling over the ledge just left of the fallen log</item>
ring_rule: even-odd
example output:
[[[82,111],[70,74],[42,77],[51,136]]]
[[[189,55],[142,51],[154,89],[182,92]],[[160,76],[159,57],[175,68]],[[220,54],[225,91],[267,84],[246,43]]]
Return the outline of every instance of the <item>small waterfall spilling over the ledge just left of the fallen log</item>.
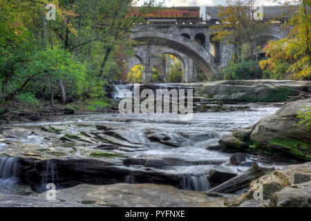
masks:
[[[209,181],[206,175],[187,175],[182,177],[182,189],[189,191],[208,191]]]

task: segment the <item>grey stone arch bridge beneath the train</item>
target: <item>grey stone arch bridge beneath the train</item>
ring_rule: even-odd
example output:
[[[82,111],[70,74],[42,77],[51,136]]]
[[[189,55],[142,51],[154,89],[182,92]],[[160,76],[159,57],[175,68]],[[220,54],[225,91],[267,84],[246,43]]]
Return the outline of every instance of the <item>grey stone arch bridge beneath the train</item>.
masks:
[[[131,38],[140,42],[134,48],[135,55],[126,60],[126,75],[138,64],[144,66],[143,82],[152,79],[152,68],[162,77],[167,77],[165,59],[161,55],[173,55],[182,64],[182,81],[191,82],[197,78],[196,65],[211,79],[218,68],[227,66],[232,56],[232,48],[220,42],[211,41],[211,24],[153,24],[137,26]],[[263,33],[268,39],[281,39],[287,32],[280,25],[274,25]]]

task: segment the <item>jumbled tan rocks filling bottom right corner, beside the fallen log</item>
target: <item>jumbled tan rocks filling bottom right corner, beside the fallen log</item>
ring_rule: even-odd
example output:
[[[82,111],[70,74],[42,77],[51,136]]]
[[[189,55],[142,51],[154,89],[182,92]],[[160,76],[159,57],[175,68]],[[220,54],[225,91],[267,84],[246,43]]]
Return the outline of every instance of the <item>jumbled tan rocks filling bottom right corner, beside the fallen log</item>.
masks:
[[[227,206],[311,207],[311,162],[286,166],[272,171],[249,184],[249,190]],[[255,201],[256,184],[263,186],[263,200]]]

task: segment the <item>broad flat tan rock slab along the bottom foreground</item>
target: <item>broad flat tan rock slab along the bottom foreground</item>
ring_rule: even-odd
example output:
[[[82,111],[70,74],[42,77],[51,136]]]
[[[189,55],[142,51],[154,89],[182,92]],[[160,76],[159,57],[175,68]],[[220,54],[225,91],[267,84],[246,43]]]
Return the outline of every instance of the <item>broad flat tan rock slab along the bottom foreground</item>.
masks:
[[[106,186],[83,184],[57,191],[57,200],[121,207],[224,207],[226,199],[226,197],[213,198],[203,192],[181,191],[173,186],[156,184]]]

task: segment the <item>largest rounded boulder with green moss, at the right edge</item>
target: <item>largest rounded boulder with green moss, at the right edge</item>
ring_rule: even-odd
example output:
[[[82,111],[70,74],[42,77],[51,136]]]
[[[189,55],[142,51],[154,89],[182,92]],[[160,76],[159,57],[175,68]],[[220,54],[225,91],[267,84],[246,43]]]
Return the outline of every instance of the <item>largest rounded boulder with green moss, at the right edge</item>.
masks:
[[[261,119],[250,135],[251,148],[258,152],[311,160],[311,132],[297,118],[306,106],[311,108],[311,99],[292,102],[274,115]]]

